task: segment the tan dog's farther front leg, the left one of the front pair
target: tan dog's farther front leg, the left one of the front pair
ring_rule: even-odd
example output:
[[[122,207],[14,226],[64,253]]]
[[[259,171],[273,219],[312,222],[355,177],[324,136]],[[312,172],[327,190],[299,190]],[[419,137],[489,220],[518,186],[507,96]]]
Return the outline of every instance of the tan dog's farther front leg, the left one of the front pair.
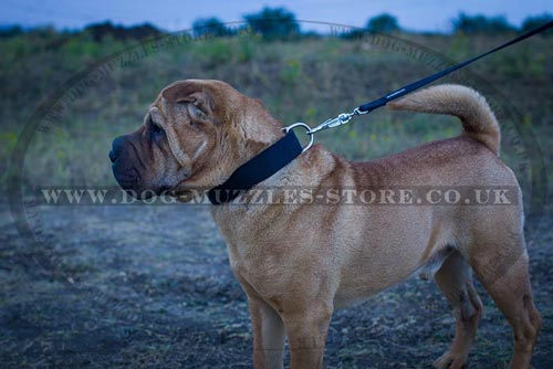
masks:
[[[253,327],[253,368],[282,369],[284,324],[276,312],[258,296],[248,295]]]

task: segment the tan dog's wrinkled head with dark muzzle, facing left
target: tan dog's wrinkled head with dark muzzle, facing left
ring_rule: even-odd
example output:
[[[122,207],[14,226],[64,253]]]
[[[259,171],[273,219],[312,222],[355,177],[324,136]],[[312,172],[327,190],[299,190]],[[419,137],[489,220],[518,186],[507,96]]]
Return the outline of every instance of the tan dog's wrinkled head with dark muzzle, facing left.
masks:
[[[133,194],[169,191],[186,201],[281,136],[259,101],[230,85],[178,81],[161,91],[138,129],[113,141],[109,159],[115,179]]]

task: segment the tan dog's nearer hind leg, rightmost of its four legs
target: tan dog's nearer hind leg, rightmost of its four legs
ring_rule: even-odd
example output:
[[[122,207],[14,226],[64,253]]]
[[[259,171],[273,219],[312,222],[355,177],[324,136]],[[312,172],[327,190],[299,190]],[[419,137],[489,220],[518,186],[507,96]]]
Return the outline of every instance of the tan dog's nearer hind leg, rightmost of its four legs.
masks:
[[[530,368],[541,317],[532,302],[522,231],[484,238],[471,247],[470,264],[513,329],[511,368]]]

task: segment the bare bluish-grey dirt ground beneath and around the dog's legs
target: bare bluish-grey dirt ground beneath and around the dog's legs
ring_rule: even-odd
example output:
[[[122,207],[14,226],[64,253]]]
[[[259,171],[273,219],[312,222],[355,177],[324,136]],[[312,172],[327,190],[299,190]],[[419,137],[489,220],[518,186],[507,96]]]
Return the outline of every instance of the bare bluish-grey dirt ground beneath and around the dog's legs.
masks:
[[[246,296],[199,205],[35,209],[23,242],[0,208],[2,368],[250,368]],[[533,359],[553,367],[553,218],[529,245],[544,318]],[[470,368],[505,368],[511,330],[486,292]],[[327,368],[429,368],[453,319],[431,281],[413,276],[332,320]],[[288,355],[286,355],[288,366]]]

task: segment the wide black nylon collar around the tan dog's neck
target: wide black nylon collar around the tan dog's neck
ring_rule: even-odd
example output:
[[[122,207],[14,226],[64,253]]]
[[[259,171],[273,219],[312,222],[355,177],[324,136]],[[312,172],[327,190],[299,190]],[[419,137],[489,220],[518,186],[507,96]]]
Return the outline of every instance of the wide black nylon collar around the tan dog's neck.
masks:
[[[240,192],[264,181],[302,154],[302,145],[290,130],[281,139],[239,167],[223,183],[208,191],[209,201],[219,205],[237,198]]]

